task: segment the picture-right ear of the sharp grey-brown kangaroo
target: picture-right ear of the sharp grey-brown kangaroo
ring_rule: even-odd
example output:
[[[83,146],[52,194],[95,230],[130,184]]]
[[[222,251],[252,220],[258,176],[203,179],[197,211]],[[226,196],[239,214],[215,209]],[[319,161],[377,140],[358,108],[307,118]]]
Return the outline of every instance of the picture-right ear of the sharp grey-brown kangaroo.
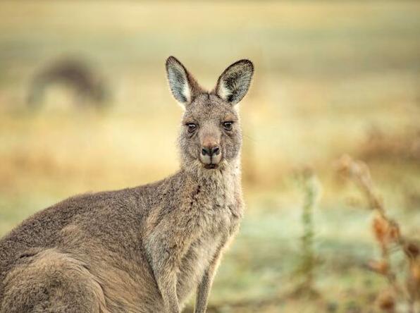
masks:
[[[254,65],[251,61],[233,63],[218,78],[216,94],[230,104],[237,104],[247,94],[253,74]]]

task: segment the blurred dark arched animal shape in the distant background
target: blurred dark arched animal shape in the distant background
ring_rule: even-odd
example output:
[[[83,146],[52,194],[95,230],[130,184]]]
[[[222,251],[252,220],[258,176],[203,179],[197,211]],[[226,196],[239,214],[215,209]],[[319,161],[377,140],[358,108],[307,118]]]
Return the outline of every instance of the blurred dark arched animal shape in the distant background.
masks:
[[[53,85],[63,85],[74,94],[78,106],[95,106],[98,109],[109,104],[110,90],[106,80],[90,63],[80,58],[58,59],[39,68],[30,80],[27,104],[39,109],[47,90]]]

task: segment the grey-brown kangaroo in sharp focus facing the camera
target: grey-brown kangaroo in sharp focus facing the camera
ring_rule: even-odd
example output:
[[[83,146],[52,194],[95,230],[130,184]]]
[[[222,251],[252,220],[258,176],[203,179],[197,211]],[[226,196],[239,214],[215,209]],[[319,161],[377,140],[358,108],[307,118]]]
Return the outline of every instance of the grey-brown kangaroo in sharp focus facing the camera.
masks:
[[[197,291],[206,312],[243,202],[237,103],[254,66],[226,68],[211,92],[180,61],[166,61],[183,106],[180,170],[124,190],[70,197],[0,240],[0,312],[179,313]]]

